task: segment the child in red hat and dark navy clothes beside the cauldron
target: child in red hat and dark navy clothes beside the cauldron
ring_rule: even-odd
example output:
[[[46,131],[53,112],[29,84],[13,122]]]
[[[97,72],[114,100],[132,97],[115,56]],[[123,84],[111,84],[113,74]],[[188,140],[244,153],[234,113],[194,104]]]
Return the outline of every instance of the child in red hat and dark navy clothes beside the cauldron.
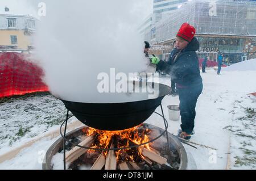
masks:
[[[168,72],[176,86],[180,99],[181,129],[178,135],[189,140],[195,127],[196,103],[203,91],[203,79],[200,75],[199,59],[196,51],[200,44],[195,36],[196,30],[188,23],[182,24],[176,35],[176,49],[170,57],[171,65],[156,59],[151,60],[152,64],[159,66],[159,69]]]

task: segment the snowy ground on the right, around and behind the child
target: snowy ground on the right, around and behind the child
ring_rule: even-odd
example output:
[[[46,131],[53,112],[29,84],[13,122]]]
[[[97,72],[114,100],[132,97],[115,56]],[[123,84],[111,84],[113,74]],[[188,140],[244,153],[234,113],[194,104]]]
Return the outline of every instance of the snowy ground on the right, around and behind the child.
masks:
[[[218,150],[200,146],[196,150],[184,145],[185,149],[195,159],[197,169],[255,169],[256,97],[247,94],[256,91],[256,71],[222,71],[221,75],[217,75],[216,71],[208,69],[207,73],[201,75],[204,89],[197,102],[196,134],[191,141]],[[170,84],[166,79],[160,82]],[[178,103],[177,97],[167,96],[163,100],[164,112],[168,113],[166,105]],[[246,117],[246,108],[254,109],[254,116],[251,111],[251,118]],[[239,121],[240,117],[244,120]],[[176,134],[180,124],[180,121],[169,121],[169,131]],[[249,151],[241,149],[245,142]],[[251,154],[248,155],[248,152]]]

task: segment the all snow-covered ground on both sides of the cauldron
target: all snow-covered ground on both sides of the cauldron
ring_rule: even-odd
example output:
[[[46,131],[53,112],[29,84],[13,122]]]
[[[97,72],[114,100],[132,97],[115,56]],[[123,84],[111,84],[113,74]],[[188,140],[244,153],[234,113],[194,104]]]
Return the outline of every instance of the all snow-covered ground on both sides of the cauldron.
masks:
[[[196,134],[191,141],[217,151],[184,145],[189,169],[255,169],[256,97],[247,94],[256,92],[256,71],[222,71],[217,75],[209,68],[201,75],[204,90],[197,103]],[[170,77],[159,81],[170,85]],[[179,104],[179,98],[166,96],[162,104],[168,119],[167,106]],[[160,108],[156,111],[160,112]],[[59,128],[64,115],[63,104],[51,95],[0,103],[0,157],[44,132]],[[164,128],[163,120],[155,114],[146,123]],[[168,123],[168,130],[176,134],[181,122]],[[35,142],[15,158],[0,163],[0,169],[42,169],[42,154],[56,139]]]

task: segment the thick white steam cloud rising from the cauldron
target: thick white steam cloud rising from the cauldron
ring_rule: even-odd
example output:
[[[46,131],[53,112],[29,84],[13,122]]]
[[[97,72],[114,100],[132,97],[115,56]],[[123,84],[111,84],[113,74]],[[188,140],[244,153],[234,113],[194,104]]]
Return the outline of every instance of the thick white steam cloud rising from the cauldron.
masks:
[[[147,4],[138,6],[136,0],[44,2],[47,14],[38,24],[35,47],[52,94],[75,102],[122,99],[98,93],[97,75],[110,73],[110,68],[126,74],[146,69],[144,40],[137,28]]]

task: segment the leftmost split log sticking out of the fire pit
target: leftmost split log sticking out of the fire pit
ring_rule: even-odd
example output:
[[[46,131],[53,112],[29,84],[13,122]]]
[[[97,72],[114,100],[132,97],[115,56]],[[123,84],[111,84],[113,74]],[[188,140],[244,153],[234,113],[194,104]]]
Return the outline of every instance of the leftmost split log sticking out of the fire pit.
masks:
[[[93,144],[94,137],[89,136],[84,141],[80,142],[80,146],[90,146]],[[66,162],[72,163],[77,158],[79,158],[82,154],[85,153],[88,149],[80,148],[79,146],[75,146],[72,150],[68,151],[66,155]]]

